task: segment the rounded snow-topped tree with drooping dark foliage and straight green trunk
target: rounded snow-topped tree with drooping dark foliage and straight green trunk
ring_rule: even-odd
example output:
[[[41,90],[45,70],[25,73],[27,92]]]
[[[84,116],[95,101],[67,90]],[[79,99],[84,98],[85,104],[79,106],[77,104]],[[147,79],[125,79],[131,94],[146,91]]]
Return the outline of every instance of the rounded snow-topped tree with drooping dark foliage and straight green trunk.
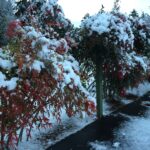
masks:
[[[83,19],[80,50],[75,54],[95,74],[98,117],[102,116],[103,95],[124,96],[125,88],[137,82],[129,76],[138,73],[140,78],[147,67],[144,57],[136,53],[129,17],[119,12],[117,4],[115,6],[112,12],[100,11]]]

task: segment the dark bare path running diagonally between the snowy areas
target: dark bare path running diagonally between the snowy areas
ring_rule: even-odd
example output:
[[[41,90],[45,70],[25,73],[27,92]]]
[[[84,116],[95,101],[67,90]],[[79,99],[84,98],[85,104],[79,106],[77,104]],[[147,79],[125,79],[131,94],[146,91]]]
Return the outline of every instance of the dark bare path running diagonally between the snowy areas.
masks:
[[[143,116],[148,107],[141,105],[142,100],[150,100],[147,94],[131,104],[113,112],[109,116],[105,116],[101,120],[96,120],[92,124],[86,126],[81,131],[70,135],[61,140],[47,150],[90,150],[89,142],[113,141],[114,130],[120,127],[120,124],[127,121],[129,116]]]

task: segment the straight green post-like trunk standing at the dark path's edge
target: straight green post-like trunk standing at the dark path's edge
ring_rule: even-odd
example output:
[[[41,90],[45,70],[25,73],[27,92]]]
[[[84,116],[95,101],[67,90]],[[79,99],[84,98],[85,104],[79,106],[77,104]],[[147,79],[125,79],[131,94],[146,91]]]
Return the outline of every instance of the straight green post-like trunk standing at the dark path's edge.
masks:
[[[96,102],[97,102],[97,117],[103,116],[103,72],[102,63],[96,64]]]

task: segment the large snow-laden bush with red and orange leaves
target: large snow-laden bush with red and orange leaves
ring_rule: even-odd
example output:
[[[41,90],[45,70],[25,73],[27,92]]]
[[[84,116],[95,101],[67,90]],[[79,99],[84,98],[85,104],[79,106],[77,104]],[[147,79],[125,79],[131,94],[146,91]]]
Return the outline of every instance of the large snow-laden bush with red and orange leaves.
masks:
[[[51,11],[54,6],[47,7]],[[30,13],[28,16],[32,16]],[[60,122],[62,109],[69,117],[95,111],[67,41],[62,36],[53,36],[54,30],[47,36],[37,18],[11,21],[6,32],[9,43],[0,49],[2,149],[17,144],[23,132],[30,138],[35,126],[51,126],[49,115]]]

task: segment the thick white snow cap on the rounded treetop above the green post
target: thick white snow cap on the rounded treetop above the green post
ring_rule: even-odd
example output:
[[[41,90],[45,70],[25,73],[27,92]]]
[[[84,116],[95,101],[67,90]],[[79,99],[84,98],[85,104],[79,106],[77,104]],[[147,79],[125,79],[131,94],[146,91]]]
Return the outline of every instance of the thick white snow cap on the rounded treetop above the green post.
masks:
[[[89,31],[89,36],[94,32],[103,35],[119,45],[121,48],[133,48],[134,35],[131,29],[131,22],[128,17],[120,13],[102,12],[85,18],[81,24],[82,29]]]

